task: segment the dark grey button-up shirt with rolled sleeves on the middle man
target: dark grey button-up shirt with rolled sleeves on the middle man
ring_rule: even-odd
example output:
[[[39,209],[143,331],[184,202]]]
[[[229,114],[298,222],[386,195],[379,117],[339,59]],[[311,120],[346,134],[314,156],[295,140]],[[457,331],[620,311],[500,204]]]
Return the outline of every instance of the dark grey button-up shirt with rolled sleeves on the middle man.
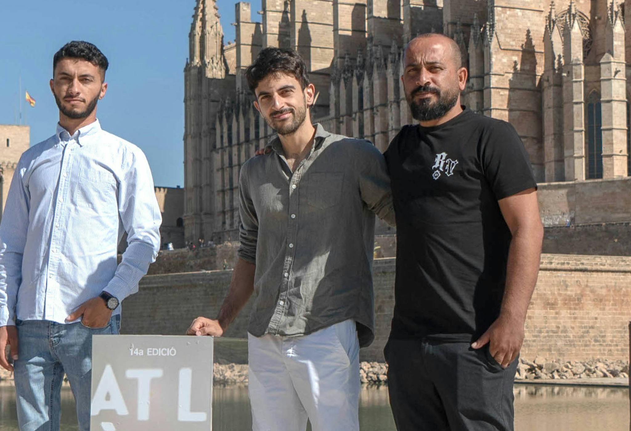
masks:
[[[276,137],[240,173],[239,257],[256,263],[248,331],[305,335],[355,319],[364,347],[374,339],[374,214],[394,226],[390,180],[369,141],[315,127],[295,172]]]

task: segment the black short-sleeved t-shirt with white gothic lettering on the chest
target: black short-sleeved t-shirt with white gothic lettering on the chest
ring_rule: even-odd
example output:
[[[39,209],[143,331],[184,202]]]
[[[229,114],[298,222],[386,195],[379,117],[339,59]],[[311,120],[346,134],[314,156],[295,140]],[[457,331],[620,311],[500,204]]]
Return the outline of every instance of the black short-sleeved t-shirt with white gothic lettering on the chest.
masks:
[[[497,319],[510,231],[498,200],[536,188],[512,125],[465,108],[407,125],[386,156],[397,224],[392,338],[471,341]]]

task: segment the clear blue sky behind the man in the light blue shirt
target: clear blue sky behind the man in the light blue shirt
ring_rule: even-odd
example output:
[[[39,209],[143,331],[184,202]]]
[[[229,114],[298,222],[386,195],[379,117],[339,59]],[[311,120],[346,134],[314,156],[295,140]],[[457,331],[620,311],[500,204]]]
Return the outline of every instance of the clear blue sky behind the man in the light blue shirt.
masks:
[[[234,39],[234,1],[217,2],[224,40]],[[16,124],[22,99],[31,144],[54,134],[52,56],[70,40],[107,56],[109,89],[98,105],[103,129],[141,147],[156,185],[184,185],[184,64],[195,0],[1,1],[0,124]],[[252,2],[252,19],[260,0]],[[21,76],[22,94],[18,95]],[[23,100],[28,90],[35,107]]]

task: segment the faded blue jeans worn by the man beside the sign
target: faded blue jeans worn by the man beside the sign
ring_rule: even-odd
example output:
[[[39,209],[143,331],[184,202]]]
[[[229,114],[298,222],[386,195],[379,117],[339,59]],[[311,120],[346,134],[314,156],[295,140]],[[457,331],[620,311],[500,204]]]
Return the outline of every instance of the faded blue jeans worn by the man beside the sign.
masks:
[[[81,431],[90,430],[92,335],[116,335],[121,316],[103,328],[83,323],[17,320],[18,355],[14,378],[20,431],[58,431],[64,372],[76,402]]]

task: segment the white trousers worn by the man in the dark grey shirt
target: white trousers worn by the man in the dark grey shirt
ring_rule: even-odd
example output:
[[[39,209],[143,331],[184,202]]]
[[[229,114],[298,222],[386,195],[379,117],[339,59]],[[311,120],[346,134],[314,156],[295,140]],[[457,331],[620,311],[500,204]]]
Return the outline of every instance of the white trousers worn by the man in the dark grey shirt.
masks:
[[[304,336],[248,334],[253,431],[359,430],[359,342],[346,320]]]

